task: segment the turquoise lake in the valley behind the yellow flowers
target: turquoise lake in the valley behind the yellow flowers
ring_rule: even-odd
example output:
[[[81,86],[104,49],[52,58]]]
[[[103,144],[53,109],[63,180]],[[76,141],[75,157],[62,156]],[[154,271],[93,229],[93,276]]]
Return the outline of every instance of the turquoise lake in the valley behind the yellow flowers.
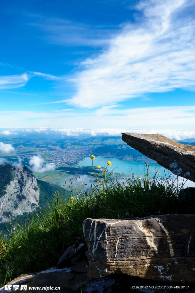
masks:
[[[145,162],[133,162],[133,161],[125,161],[125,163],[122,160],[114,159],[114,158],[101,158],[101,157],[95,157],[93,160],[94,167],[101,166],[103,168],[104,166],[107,166],[107,161],[110,161],[112,163],[112,166],[107,167],[108,172],[111,172],[114,168],[116,168],[113,172],[114,173],[121,173],[122,172],[127,176],[132,176],[132,172],[134,173],[134,176],[136,175],[144,175],[147,173]],[[147,162],[146,162],[147,163]],[[92,159],[90,157],[86,157],[84,160],[80,161],[77,166],[92,166]],[[162,166],[153,163],[148,163],[149,168],[149,174],[150,177],[152,177],[156,170],[158,170],[158,175],[162,177],[168,177],[169,174],[173,175],[169,170],[163,168]],[[142,173],[144,172],[144,174]]]

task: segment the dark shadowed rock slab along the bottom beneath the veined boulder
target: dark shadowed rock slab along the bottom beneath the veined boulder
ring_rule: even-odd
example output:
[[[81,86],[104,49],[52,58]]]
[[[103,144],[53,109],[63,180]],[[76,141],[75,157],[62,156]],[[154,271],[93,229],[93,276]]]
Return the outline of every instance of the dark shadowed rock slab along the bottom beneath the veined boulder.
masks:
[[[194,283],[172,283],[140,279],[128,275],[110,275],[105,278],[88,278],[87,260],[77,264],[77,268],[56,267],[47,270],[21,275],[0,288],[1,293],[194,293]],[[21,287],[22,286],[22,287]],[[60,287],[60,289],[59,289]],[[18,289],[17,289],[18,288]],[[39,288],[39,289],[38,289]],[[52,288],[52,289],[50,289]],[[158,289],[157,289],[158,288]],[[81,291],[82,290],[82,291]]]

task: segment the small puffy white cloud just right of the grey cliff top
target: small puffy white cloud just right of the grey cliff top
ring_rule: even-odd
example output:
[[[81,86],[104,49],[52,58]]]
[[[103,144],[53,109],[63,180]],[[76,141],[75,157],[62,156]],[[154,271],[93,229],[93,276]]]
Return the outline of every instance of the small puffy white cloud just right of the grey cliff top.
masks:
[[[40,155],[30,157],[29,164],[32,166],[32,171],[34,172],[44,173],[56,169],[55,164],[46,163],[46,165],[43,166],[43,163],[44,159]]]

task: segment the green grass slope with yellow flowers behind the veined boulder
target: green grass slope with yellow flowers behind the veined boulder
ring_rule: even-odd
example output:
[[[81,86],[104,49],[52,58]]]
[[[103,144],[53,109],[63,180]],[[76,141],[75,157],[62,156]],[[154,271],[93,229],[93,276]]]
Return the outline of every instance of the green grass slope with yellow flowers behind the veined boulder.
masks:
[[[44,270],[57,264],[68,246],[84,243],[82,222],[86,218],[125,219],[157,214],[195,212],[193,197],[182,198],[182,184],[171,178],[134,175],[111,180],[96,177],[97,185],[87,191],[75,186],[67,198],[59,193],[49,207],[20,227],[11,224],[9,240],[0,240],[1,286],[21,274]],[[176,184],[177,183],[177,184]],[[69,191],[67,191],[69,192]],[[73,198],[74,197],[74,198]]]

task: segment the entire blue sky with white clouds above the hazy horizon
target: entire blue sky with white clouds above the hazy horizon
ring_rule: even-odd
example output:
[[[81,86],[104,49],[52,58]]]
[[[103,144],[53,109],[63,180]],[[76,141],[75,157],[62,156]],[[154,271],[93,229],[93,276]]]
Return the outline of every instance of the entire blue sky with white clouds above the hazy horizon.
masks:
[[[195,1],[4,1],[0,127],[194,130]]]

